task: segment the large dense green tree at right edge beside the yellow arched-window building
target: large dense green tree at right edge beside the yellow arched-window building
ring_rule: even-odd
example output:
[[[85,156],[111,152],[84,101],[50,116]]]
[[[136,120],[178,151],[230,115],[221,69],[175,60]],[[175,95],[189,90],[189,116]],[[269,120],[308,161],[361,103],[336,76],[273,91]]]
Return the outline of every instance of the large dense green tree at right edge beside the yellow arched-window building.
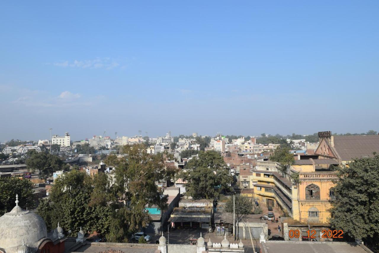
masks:
[[[379,252],[379,155],[355,159],[340,168],[330,223],[347,239],[363,240]]]

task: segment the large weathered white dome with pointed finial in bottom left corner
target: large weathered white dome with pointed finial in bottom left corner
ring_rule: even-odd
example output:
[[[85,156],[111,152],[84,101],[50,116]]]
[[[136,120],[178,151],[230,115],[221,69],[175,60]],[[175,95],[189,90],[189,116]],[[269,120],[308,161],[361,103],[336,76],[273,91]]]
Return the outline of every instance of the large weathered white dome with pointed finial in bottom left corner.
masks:
[[[16,197],[17,199],[17,197]],[[16,206],[9,213],[0,217],[0,245],[2,248],[11,248],[21,245],[23,238],[26,244],[33,245],[47,237],[45,221],[41,216]],[[25,246],[26,247],[26,246]]]

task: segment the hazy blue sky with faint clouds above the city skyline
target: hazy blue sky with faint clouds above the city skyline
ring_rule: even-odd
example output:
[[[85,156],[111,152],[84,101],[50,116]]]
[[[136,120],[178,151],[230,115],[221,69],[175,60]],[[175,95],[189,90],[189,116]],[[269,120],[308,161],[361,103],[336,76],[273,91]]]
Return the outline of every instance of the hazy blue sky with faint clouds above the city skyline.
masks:
[[[0,141],[378,130],[378,1],[0,4]],[[145,134],[144,134],[145,135]]]

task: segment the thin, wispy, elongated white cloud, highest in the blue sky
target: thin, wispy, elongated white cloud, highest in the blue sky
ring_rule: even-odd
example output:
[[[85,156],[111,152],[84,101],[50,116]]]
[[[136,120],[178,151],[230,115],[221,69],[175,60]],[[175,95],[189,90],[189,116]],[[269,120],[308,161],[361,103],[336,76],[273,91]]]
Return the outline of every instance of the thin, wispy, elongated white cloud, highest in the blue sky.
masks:
[[[104,68],[106,70],[111,70],[113,68],[117,68],[118,66],[120,66],[120,63],[117,60],[111,59],[109,57],[104,57],[104,58],[96,58],[93,60],[74,60],[72,62],[69,62],[69,61],[56,62],[56,63],[53,63],[53,65],[58,66],[58,67],[88,68],[88,69]]]

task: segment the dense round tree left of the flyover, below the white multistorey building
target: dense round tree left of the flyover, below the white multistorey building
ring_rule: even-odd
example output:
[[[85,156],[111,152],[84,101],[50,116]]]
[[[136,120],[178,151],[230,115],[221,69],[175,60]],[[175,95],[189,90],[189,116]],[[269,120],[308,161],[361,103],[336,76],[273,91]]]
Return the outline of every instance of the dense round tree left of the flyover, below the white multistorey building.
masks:
[[[28,151],[28,158],[25,161],[29,171],[39,171],[39,177],[47,179],[53,176],[54,171],[68,170],[69,165],[63,163],[62,159],[56,155],[50,155],[36,150]]]

